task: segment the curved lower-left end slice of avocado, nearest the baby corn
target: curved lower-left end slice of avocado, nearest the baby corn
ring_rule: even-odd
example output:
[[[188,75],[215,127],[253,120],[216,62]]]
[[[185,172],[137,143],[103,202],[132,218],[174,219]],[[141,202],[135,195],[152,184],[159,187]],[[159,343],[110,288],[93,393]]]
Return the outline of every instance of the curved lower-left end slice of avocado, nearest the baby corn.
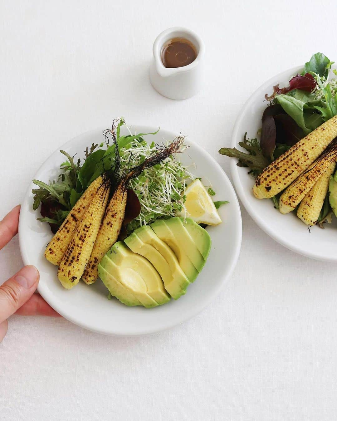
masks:
[[[108,272],[109,269],[111,269],[110,259],[104,256],[98,265],[98,275],[111,295],[127,306],[141,306],[141,302],[112,275],[113,272]]]

